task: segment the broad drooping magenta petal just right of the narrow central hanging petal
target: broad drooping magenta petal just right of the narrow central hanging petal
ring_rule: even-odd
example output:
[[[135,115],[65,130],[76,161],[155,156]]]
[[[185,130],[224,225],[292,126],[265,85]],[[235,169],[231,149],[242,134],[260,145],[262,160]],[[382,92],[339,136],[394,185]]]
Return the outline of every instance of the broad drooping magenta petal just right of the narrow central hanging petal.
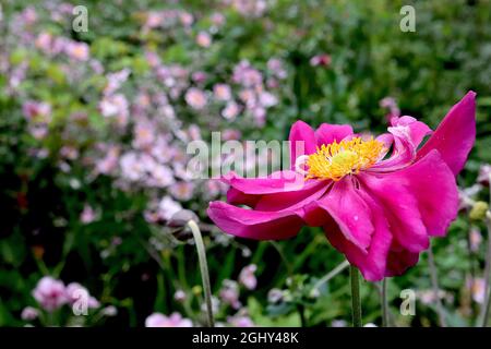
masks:
[[[398,172],[358,177],[363,188],[383,207],[394,238],[411,252],[428,249],[430,240],[418,210],[418,202],[408,190],[408,180]]]

